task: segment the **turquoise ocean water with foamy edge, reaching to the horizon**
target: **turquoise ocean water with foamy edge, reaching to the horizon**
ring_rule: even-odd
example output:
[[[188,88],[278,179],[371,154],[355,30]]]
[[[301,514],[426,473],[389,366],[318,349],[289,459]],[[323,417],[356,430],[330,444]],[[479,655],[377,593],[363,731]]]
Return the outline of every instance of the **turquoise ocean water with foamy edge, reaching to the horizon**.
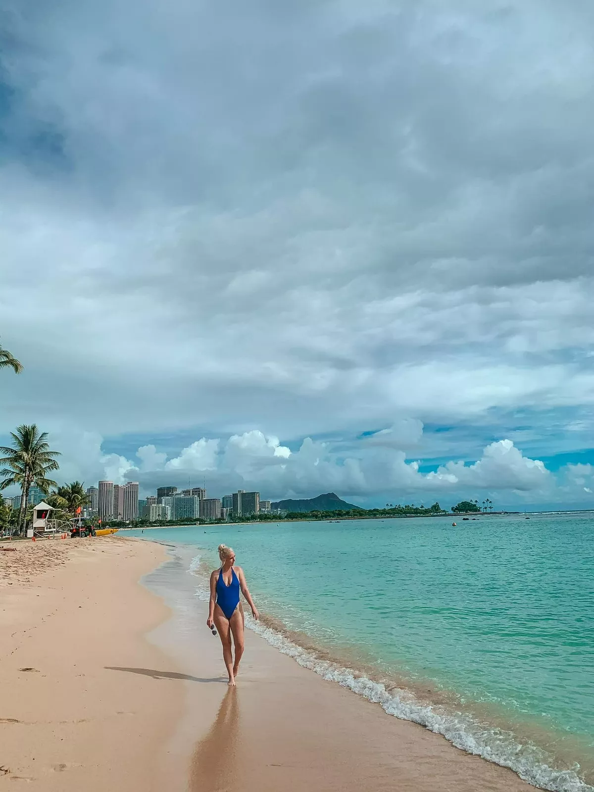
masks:
[[[594,790],[594,515],[167,528],[281,651],[546,789]],[[200,558],[200,564],[198,563]]]

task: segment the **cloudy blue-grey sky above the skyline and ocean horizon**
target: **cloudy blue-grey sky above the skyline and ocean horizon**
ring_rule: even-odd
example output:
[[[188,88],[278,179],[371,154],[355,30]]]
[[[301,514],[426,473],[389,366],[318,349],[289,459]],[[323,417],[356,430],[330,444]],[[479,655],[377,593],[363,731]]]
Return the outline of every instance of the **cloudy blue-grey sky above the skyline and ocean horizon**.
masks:
[[[0,0],[0,439],[594,505],[589,0]]]

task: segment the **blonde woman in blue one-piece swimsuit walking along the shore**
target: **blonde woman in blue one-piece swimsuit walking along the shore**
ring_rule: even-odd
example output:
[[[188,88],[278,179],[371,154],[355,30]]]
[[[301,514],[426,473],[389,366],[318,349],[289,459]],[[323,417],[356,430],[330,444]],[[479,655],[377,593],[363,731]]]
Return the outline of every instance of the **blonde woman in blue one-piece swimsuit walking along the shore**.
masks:
[[[253,618],[258,619],[259,614],[248,591],[243,569],[234,565],[234,551],[227,545],[219,545],[219,558],[222,565],[211,573],[211,600],[208,604],[206,623],[209,628],[215,624],[219,630],[223,644],[223,660],[227,666],[229,684],[233,686],[243,654],[244,617],[243,607],[239,602],[240,590],[252,609]],[[235,646],[235,661],[231,651],[231,635]]]

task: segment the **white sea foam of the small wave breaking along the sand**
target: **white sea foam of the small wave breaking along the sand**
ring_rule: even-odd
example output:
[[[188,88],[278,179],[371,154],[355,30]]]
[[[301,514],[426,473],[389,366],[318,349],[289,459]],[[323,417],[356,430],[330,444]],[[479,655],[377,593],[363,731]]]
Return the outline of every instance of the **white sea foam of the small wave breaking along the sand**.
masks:
[[[199,556],[196,558],[200,559]],[[198,564],[192,559],[192,571]],[[196,588],[196,597],[202,601],[209,599],[208,589],[204,585]],[[352,668],[344,668],[331,661],[321,660],[303,647],[286,638],[282,633],[256,622],[246,614],[246,626],[260,635],[281,653],[310,668],[323,679],[336,682],[341,687],[348,687],[358,695],[373,703],[378,703],[383,710],[401,718],[425,726],[432,732],[442,734],[456,748],[467,753],[482,756],[483,759],[509,767],[521,779],[551,792],[594,792],[594,786],[582,781],[578,775],[579,766],[565,770],[550,767],[546,754],[534,744],[520,742],[518,738],[505,729],[487,728],[468,714],[449,713],[440,706],[422,703],[407,690],[392,688],[390,691],[379,682],[361,676]]]

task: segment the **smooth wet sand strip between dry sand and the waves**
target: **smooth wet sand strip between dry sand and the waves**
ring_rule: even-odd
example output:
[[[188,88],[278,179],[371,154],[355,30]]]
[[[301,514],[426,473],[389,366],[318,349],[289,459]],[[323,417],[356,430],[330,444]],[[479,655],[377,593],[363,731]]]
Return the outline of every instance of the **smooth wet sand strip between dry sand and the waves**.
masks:
[[[190,566],[180,546],[170,546],[172,565],[149,576],[147,585],[180,603],[177,627],[163,648],[177,653],[181,668],[204,682],[191,685],[188,714],[181,728],[192,752],[191,792],[227,789],[241,782],[257,790],[435,790],[527,792],[534,789],[516,772],[455,748],[439,733],[410,720],[388,717],[378,699],[352,695],[348,686],[323,678],[261,635],[246,630],[246,655],[238,687],[227,691],[221,647],[204,629],[206,601],[188,580]],[[196,563],[193,565],[196,569]],[[180,575],[183,570],[185,577]],[[150,579],[152,578],[152,579]],[[170,587],[170,588],[169,588]],[[189,610],[188,610],[189,609]],[[191,611],[189,619],[184,614]],[[174,617],[175,619],[176,617]],[[200,658],[193,671],[190,658]],[[200,690],[198,689],[200,688]],[[360,692],[360,691],[358,691]],[[192,715],[208,712],[204,731]],[[222,756],[229,756],[221,764]]]

